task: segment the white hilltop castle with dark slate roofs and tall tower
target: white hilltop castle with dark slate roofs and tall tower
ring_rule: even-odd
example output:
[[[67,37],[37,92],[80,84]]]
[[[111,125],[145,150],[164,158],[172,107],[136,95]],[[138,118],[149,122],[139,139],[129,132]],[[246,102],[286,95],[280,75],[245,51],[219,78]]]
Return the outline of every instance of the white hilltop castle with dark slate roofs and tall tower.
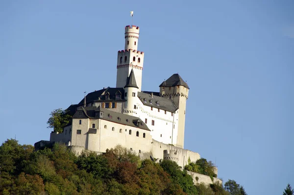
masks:
[[[200,158],[184,149],[189,86],[175,73],[159,85],[159,92],[142,91],[144,52],[138,51],[139,27],[125,26],[124,38],[124,50],[117,57],[116,87],[91,92],[71,105],[67,111],[72,122],[62,133],[51,132],[50,142],[63,142],[77,154],[82,150],[103,153],[122,145],[141,158],[169,159],[184,168],[188,159]]]

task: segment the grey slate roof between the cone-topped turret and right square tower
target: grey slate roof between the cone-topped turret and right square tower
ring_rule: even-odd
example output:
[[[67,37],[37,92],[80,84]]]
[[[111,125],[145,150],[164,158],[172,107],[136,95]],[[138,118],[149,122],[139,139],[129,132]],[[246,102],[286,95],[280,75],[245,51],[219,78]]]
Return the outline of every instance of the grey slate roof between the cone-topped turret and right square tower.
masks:
[[[158,92],[157,92],[158,93]],[[155,96],[151,97],[150,94],[144,92],[138,92],[138,97],[142,101],[142,103],[146,106],[159,108],[161,110],[166,110],[169,112],[175,112],[178,108],[174,105],[171,99],[167,99],[165,97]],[[146,102],[145,102],[146,99]],[[151,103],[152,101],[152,103]],[[157,105],[157,102],[159,105]]]

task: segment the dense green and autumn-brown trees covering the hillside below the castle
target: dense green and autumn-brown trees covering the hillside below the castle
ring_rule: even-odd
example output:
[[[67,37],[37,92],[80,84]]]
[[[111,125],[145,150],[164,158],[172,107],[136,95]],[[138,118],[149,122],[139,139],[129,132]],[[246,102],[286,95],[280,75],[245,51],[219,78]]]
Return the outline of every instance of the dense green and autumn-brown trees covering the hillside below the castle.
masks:
[[[195,186],[172,161],[143,160],[122,146],[75,156],[66,146],[34,151],[10,139],[0,146],[1,195],[229,195],[221,185]]]

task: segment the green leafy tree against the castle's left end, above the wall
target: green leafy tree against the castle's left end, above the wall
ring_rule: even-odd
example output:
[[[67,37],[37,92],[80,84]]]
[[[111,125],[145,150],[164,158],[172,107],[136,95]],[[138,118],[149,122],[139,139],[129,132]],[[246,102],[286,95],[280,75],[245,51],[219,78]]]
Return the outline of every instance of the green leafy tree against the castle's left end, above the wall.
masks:
[[[53,128],[54,132],[63,132],[63,128],[70,122],[72,116],[61,108],[55,109],[50,113],[50,118],[47,122],[47,128]]]

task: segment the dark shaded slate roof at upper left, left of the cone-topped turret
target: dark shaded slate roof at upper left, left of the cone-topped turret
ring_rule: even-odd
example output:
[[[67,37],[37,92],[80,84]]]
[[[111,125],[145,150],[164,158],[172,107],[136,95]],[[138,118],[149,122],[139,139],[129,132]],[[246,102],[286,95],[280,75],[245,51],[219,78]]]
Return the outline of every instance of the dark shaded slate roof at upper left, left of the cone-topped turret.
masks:
[[[116,94],[121,94],[121,99],[116,98]],[[109,98],[105,98],[105,95],[109,95]],[[125,101],[124,89],[107,87],[95,92],[91,92],[86,96],[86,103],[92,103],[96,101]],[[84,105],[84,98],[77,104],[78,106]]]

